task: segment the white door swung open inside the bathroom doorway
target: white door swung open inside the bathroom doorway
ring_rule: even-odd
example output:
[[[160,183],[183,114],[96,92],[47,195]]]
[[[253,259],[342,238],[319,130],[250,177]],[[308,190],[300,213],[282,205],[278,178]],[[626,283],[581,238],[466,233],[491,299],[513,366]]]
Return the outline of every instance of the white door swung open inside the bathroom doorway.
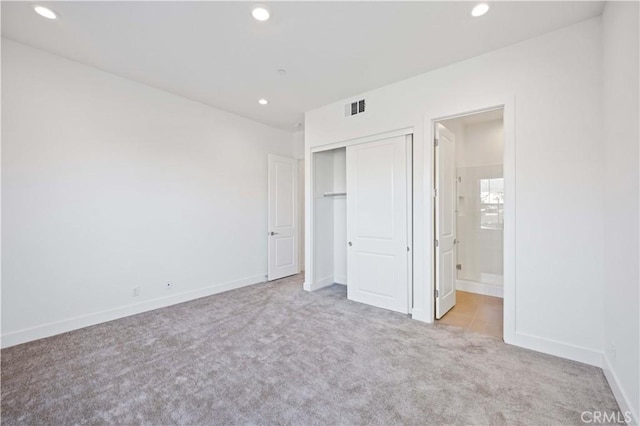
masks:
[[[435,271],[436,318],[456,304],[456,139],[436,124],[435,146]]]

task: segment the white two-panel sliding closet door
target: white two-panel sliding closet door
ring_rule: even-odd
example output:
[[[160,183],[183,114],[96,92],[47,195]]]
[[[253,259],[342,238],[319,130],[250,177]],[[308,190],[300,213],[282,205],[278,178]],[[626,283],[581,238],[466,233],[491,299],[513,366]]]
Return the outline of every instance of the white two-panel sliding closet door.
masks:
[[[347,147],[347,295],[409,312],[406,136]]]

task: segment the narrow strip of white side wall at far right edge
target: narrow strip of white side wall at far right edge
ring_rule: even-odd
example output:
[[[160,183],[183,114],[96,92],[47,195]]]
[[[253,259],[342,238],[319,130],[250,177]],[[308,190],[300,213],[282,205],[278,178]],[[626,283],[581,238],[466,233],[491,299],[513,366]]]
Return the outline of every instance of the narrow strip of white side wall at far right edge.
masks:
[[[640,420],[638,3],[607,3],[604,47],[605,373]]]

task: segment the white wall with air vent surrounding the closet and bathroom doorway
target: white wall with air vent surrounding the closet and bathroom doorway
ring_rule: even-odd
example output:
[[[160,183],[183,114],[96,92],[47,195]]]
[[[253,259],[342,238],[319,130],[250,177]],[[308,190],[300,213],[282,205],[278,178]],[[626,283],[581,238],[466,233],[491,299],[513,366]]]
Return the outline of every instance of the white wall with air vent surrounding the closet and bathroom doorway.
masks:
[[[307,153],[311,147],[413,127],[414,158],[422,160],[429,158],[426,116],[513,99],[517,314],[512,343],[592,364],[600,363],[603,347],[601,53],[601,22],[595,18],[357,95],[367,100],[364,114],[344,117],[342,100],[305,117]],[[427,236],[433,223],[430,164],[416,161],[414,173],[414,191],[424,194],[414,199],[414,231]],[[414,239],[414,259],[423,259],[414,269],[414,316],[432,303],[426,240]]]

